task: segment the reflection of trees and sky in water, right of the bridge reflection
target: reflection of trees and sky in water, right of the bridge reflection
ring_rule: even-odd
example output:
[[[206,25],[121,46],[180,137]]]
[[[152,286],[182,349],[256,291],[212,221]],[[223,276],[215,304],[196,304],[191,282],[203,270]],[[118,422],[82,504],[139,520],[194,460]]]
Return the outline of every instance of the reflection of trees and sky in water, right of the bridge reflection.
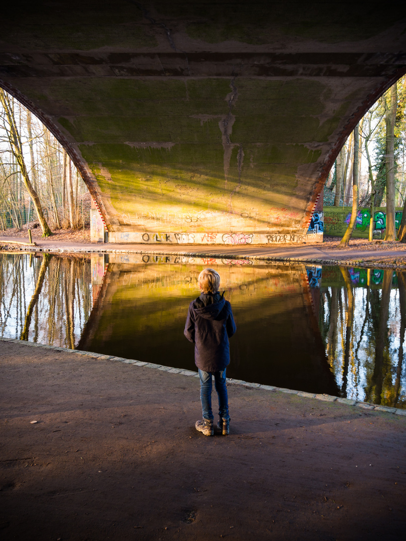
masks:
[[[320,295],[320,330],[340,394],[405,407],[406,273],[326,267]]]

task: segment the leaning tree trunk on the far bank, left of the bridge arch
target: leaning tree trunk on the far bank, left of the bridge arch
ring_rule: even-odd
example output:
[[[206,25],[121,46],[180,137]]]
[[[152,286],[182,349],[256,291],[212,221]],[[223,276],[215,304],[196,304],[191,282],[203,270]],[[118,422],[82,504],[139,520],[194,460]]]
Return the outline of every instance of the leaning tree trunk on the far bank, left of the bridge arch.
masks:
[[[19,134],[18,134],[14,113],[10,107],[10,100],[8,96],[5,94],[4,90],[2,89],[0,89],[0,101],[3,105],[4,111],[9,123],[8,136],[10,140],[11,150],[17,159],[17,163],[21,170],[25,188],[27,188],[27,192],[29,193],[29,196],[32,199],[32,203],[34,204],[35,210],[38,215],[38,219],[40,220],[42,234],[44,237],[50,236],[52,235],[52,232],[49,229],[48,223],[44,217],[44,213],[42,212],[40,197],[38,197],[37,192],[32,187],[32,184],[27,172],[27,168],[25,167],[21,138],[19,137]]]

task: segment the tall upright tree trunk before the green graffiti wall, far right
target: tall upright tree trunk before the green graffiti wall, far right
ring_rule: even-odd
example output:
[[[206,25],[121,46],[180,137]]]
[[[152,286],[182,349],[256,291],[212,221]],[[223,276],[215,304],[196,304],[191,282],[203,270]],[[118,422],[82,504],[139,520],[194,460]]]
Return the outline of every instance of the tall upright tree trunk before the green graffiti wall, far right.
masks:
[[[389,101],[389,103],[388,103]],[[397,109],[397,83],[388,90],[385,108],[386,171],[387,171],[387,230],[384,240],[396,240],[395,228],[395,122]]]

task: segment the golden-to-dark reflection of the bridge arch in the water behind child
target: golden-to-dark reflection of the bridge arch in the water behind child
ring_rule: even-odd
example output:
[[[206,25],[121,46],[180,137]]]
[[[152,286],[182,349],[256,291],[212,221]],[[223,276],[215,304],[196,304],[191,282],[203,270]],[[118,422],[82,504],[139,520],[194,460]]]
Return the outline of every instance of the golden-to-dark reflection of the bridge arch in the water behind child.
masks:
[[[193,347],[183,330],[205,263],[166,257],[114,254],[103,276],[102,263],[92,255],[93,268],[100,263],[99,278],[92,273],[99,295],[79,349],[194,370]],[[227,260],[211,265],[221,274],[238,325],[229,377],[337,394],[304,265],[230,265]]]

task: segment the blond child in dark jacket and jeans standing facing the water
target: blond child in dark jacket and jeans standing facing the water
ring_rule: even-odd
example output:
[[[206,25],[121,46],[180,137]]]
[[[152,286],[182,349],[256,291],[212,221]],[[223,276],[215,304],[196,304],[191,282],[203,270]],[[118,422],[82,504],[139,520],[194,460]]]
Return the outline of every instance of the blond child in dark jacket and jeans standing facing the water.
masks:
[[[228,338],[236,327],[230,302],[219,293],[220,275],[213,269],[204,269],[199,274],[201,295],[191,302],[185,325],[186,338],[194,342],[194,362],[199,368],[200,400],[203,419],[196,421],[196,430],[213,436],[212,375],[219,398],[217,424],[222,434],[230,430],[226,366],[230,363]]]

